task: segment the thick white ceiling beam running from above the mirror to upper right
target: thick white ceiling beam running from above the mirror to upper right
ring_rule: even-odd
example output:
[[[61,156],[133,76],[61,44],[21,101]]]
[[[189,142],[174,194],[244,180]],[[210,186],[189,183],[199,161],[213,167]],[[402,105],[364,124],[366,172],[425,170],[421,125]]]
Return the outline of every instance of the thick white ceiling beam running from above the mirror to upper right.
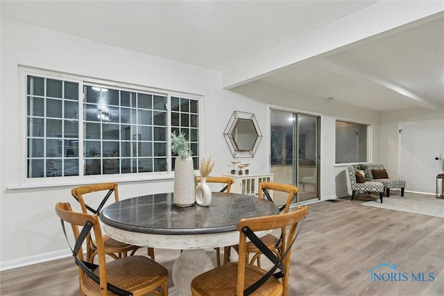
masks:
[[[382,0],[289,44],[223,71],[222,84],[231,89],[264,78],[291,64],[329,55],[350,44],[444,11],[441,0]],[[357,29],[358,28],[358,29]],[[340,51],[341,51],[340,50]]]

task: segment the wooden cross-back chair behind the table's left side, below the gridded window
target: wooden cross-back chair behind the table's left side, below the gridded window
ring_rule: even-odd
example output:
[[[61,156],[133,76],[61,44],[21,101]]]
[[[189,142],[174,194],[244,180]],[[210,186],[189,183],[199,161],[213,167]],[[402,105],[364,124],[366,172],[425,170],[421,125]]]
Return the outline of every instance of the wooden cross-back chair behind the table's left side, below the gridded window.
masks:
[[[98,196],[93,194],[94,192],[106,193],[105,197],[100,199],[91,200],[89,204],[99,204],[96,207],[92,207],[91,205],[85,202],[85,195],[93,198]],[[80,203],[80,207],[82,208],[83,213],[88,214],[96,214],[100,215],[100,212],[108,201],[108,198],[114,194],[114,202],[119,201],[119,190],[117,183],[101,183],[101,184],[92,184],[85,185],[74,188],[71,190],[71,195]],[[100,202],[99,202],[100,201]],[[94,239],[91,236],[87,236],[87,261],[93,262],[94,256],[97,254],[96,245]],[[133,255],[139,246],[137,245],[129,245],[128,243],[121,243],[120,241],[116,241],[114,238],[111,238],[108,235],[103,235],[103,243],[105,246],[105,254],[112,256],[114,259],[118,259],[121,257],[125,257],[130,252],[130,255]],[[153,248],[148,248],[148,256],[154,260],[154,250]]]

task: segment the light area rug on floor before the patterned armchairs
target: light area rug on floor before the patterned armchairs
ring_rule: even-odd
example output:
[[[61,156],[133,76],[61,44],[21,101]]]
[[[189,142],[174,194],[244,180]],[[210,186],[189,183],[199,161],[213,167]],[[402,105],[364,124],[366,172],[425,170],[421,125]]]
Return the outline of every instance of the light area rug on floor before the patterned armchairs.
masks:
[[[381,203],[379,200],[372,200],[364,202],[362,205],[444,218],[444,200],[435,198],[434,195],[421,197],[391,195],[390,198],[384,198],[383,201]]]

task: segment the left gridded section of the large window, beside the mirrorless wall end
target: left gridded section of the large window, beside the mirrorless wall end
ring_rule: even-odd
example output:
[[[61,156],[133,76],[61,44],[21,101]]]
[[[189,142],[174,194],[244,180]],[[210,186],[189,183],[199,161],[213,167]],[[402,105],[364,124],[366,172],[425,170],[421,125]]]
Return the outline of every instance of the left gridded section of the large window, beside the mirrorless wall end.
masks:
[[[27,86],[27,176],[78,175],[78,83],[28,76]]]

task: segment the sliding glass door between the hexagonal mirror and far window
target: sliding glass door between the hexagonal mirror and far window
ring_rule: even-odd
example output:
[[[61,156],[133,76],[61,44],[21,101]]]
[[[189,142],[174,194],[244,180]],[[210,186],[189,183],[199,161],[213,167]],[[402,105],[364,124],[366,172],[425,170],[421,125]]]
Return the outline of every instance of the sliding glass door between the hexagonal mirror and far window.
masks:
[[[294,203],[318,199],[319,116],[271,110],[271,173],[274,182],[298,186]],[[286,195],[274,193],[284,204]]]

